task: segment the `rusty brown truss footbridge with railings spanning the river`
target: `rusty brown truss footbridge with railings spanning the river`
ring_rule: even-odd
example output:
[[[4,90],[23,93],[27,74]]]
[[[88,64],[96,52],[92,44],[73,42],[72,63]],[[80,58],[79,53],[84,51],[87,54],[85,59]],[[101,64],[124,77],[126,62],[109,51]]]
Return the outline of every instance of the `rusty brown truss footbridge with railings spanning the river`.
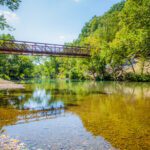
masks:
[[[0,54],[90,57],[90,47],[0,40]]]

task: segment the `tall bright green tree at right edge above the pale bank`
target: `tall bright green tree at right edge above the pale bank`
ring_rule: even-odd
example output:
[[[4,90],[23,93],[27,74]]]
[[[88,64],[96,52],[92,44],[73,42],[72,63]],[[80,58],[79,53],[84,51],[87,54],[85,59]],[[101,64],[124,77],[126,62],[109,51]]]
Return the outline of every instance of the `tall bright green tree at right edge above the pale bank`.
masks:
[[[120,13],[120,30],[111,43],[113,52],[113,63],[115,57],[122,62],[129,62],[135,74],[135,59],[141,61],[141,74],[144,64],[150,58],[149,36],[150,36],[150,1],[128,0]],[[124,60],[124,61],[122,61]]]

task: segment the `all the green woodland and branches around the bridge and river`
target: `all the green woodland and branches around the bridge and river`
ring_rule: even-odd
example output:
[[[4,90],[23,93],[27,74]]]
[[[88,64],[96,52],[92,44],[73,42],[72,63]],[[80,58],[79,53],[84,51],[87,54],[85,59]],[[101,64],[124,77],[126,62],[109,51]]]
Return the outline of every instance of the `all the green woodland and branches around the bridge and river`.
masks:
[[[1,0],[11,11],[21,1]],[[85,23],[70,45],[90,45],[91,58],[39,57],[0,54],[0,78],[110,81],[150,81],[150,1],[126,0]],[[0,31],[11,26],[0,16]],[[15,39],[0,34],[0,39]]]

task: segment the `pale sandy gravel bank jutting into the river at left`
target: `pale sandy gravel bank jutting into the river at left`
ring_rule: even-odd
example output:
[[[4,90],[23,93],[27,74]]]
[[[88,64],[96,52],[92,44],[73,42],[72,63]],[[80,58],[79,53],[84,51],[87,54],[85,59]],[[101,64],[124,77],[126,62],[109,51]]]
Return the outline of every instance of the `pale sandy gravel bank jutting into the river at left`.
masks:
[[[11,81],[6,81],[3,79],[0,79],[0,90],[6,90],[6,89],[23,89],[24,86],[21,84],[16,84]]]

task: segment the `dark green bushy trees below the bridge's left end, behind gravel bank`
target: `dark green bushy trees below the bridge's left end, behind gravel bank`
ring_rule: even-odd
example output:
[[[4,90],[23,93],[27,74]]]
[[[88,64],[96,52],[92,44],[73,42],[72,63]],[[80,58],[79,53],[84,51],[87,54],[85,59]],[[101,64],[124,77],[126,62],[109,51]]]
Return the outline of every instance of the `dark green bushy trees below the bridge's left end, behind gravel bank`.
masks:
[[[0,77],[20,80],[33,77],[34,65],[27,56],[0,55]]]

